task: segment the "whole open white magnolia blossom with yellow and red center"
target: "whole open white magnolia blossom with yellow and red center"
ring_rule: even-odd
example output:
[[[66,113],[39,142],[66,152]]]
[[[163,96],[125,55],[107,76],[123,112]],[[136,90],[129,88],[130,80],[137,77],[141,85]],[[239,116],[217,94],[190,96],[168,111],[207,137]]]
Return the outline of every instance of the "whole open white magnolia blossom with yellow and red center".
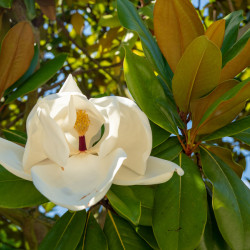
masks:
[[[149,156],[149,121],[133,101],[88,100],[71,75],[59,93],[35,105],[27,134],[25,148],[0,138],[0,164],[71,210],[96,204],[112,183],[151,185],[183,174],[176,164]]]

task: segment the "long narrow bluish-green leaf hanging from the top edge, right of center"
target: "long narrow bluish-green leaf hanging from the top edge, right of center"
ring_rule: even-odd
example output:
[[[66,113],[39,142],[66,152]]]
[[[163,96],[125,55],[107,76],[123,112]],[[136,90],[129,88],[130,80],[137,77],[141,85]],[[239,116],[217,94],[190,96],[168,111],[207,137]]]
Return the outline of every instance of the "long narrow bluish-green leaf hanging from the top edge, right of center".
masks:
[[[168,88],[171,89],[173,73],[152,34],[137,13],[136,8],[128,0],[117,0],[117,11],[122,26],[139,34],[145,56],[153,68],[161,75],[161,78],[164,79]]]

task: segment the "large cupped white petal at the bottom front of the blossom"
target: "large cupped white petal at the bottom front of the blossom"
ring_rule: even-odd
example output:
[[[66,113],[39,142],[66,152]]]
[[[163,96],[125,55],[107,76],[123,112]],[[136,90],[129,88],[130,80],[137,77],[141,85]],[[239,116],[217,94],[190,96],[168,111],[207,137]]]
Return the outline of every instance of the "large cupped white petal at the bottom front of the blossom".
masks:
[[[81,153],[69,158],[62,168],[50,161],[34,166],[37,189],[63,207],[80,210],[96,204],[110,188],[126,154],[116,149],[105,158]]]

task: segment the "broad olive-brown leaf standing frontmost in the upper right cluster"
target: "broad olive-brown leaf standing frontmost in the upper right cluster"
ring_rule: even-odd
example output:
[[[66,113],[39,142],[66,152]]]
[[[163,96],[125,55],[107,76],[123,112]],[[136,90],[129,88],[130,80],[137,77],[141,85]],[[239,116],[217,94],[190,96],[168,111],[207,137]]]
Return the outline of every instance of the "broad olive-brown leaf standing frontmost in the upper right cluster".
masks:
[[[219,48],[206,36],[196,38],[179,61],[173,81],[173,95],[179,109],[189,111],[190,101],[198,99],[217,85],[222,57]]]

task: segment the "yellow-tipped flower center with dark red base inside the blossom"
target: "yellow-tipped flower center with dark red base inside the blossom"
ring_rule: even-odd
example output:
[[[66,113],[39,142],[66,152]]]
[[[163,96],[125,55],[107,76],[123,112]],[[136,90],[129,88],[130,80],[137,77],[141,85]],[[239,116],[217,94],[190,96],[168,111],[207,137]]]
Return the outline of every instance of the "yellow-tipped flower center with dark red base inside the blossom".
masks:
[[[74,129],[77,131],[79,135],[79,151],[82,151],[82,152],[87,150],[85,134],[88,131],[89,125],[90,125],[90,120],[86,111],[77,110]]]

